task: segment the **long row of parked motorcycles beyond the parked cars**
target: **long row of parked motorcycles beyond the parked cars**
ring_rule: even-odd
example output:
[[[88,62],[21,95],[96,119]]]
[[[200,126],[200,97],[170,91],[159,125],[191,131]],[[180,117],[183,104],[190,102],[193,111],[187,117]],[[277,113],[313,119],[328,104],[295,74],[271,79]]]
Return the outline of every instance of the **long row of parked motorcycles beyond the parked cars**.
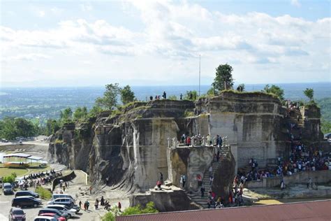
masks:
[[[54,178],[62,176],[61,171],[55,172],[54,169],[50,171],[41,171],[38,173],[30,173],[29,176],[24,176],[22,180],[15,181],[15,187],[20,187],[21,190],[27,190],[28,187],[38,187],[51,183]]]

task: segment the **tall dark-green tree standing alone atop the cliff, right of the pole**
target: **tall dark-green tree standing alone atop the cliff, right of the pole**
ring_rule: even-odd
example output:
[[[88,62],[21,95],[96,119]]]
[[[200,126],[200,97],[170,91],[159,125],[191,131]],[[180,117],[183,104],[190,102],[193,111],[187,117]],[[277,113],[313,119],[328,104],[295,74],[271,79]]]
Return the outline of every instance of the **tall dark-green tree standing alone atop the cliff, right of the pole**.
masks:
[[[221,92],[222,90],[229,90],[233,88],[232,66],[228,64],[221,64],[216,69],[216,77],[212,86]]]

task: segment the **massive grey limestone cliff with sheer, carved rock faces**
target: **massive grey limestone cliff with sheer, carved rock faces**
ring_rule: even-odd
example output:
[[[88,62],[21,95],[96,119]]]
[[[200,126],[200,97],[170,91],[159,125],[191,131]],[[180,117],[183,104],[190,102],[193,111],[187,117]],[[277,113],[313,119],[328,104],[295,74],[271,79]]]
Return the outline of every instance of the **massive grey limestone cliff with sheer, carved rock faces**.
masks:
[[[277,98],[260,92],[223,92],[196,104],[136,102],[89,122],[65,124],[52,137],[48,154],[52,162],[86,171],[95,185],[144,191],[154,187],[161,172],[175,185],[180,174],[187,174],[194,188],[196,173],[205,173],[212,152],[207,147],[178,149],[169,162],[168,138],[179,140],[183,133],[228,136],[236,166],[244,166],[251,157],[263,166],[286,154],[284,113]],[[174,169],[169,170],[170,165]]]

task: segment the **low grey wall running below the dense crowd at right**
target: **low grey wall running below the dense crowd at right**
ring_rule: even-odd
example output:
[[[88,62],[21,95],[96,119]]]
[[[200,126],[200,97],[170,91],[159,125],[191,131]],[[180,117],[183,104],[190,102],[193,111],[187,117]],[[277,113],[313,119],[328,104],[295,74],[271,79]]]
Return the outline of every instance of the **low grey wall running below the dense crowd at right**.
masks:
[[[294,173],[291,176],[284,176],[283,180],[286,185],[290,185],[293,183],[307,183],[307,181],[311,178],[313,183],[328,183],[331,181],[331,170],[327,171],[304,171],[299,173]],[[248,181],[246,183],[247,188],[270,188],[277,187],[281,183],[280,177],[274,178],[263,178],[258,181]]]

